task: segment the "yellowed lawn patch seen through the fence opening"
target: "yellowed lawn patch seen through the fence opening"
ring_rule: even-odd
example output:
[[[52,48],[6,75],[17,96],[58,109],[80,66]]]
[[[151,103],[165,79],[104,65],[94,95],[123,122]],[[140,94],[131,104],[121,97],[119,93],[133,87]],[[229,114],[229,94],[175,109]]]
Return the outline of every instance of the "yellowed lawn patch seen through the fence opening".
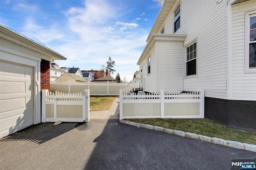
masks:
[[[90,96],[91,111],[108,111],[118,96]]]

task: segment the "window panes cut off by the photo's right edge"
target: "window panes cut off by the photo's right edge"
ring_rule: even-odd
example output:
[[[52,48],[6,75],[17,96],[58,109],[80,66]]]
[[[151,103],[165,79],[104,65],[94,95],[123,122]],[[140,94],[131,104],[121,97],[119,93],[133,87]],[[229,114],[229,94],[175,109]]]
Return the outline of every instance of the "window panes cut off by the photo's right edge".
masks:
[[[250,17],[249,68],[256,67],[256,15]]]

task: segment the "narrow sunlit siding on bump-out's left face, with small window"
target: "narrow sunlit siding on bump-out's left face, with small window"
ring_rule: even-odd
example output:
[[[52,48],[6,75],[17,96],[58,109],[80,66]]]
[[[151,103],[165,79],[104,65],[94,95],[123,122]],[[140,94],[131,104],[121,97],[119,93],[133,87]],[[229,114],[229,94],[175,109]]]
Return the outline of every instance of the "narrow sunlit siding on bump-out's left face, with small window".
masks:
[[[148,57],[150,56],[150,74],[148,74]],[[142,68],[142,74],[144,78],[144,91],[155,92],[156,91],[156,46],[154,45],[150,52],[146,55],[146,58],[140,65]]]

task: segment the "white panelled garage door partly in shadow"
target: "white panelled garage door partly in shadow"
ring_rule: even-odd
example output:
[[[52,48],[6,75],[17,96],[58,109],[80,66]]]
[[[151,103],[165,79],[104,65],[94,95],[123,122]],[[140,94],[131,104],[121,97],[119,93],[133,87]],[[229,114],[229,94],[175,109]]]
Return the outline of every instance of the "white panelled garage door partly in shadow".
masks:
[[[0,138],[33,125],[33,68],[0,61]]]

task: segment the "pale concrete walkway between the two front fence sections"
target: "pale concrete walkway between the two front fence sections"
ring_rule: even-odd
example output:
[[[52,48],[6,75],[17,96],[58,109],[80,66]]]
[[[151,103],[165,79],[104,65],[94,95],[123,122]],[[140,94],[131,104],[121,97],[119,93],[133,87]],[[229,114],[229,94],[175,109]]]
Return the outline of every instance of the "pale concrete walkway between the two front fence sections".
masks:
[[[119,97],[116,97],[109,111],[90,111],[90,119],[119,119]]]

